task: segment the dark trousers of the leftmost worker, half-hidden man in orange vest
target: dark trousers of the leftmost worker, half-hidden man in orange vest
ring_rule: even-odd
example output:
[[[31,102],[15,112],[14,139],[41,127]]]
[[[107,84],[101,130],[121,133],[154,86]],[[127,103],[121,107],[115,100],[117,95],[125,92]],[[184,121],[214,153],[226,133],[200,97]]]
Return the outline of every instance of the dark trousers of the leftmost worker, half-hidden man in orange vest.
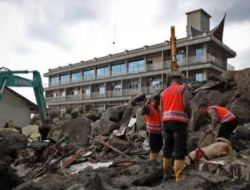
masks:
[[[149,139],[149,147],[151,149],[151,153],[160,152],[163,145],[162,133],[147,132],[147,135]]]

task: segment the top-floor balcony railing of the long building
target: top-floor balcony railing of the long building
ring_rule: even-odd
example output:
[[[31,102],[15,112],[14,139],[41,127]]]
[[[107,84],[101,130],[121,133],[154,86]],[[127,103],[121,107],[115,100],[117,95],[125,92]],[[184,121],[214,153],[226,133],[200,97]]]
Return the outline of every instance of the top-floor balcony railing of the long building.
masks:
[[[218,67],[226,70],[227,69],[227,63],[224,60],[221,60],[211,54],[206,54],[203,56],[190,56],[188,57],[188,61],[184,59],[183,61],[178,62],[178,66],[184,67],[184,66],[190,66],[190,65],[197,65],[197,64],[202,64],[202,63],[212,63],[214,65],[217,65]],[[105,75],[101,76],[92,76],[92,77],[83,77],[78,80],[70,80],[70,81],[57,81],[57,82],[52,82],[49,83],[49,86],[59,86],[59,85],[66,85],[66,84],[72,84],[72,83],[80,83],[80,82],[85,82],[85,81],[91,81],[91,80],[96,80],[96,79],[103,79],[103,78],[109,78],[109,77],[114,77],[114,76],[122,76],[126,75],[127,72],[129,74],[136,74],[140,72],[147,72],[147,71],[153,71],[153,70],[160,70],[160,69],[168,69],[171,65],[171,61],[164,61],[162,63],[157,63],[153,65],[147,65],[145,68],[139,68],[139,69],[134,69],[134,70],[124,70],[121,72],[111,72],[111,73],[105,73]],[[45,85],[47,86],[47,85]]]

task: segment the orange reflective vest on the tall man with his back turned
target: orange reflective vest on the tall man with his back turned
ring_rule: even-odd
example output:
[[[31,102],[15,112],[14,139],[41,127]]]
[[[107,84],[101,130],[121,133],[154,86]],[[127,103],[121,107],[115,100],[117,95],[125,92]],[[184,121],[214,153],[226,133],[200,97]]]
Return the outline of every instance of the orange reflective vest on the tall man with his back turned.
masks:
[[[184,85],[173,84],[161,93],[163,121],[187,122],[183,106]]]

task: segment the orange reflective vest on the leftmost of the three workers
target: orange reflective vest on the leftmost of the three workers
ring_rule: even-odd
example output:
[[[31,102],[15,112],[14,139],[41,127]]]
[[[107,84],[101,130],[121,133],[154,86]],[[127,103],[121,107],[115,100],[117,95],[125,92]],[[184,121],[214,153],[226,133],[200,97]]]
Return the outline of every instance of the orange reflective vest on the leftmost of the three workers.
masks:
[[[161,133],[162,131],[162,117],[161,117],[161,108],[158,107],[158,110],[152,105],[149,107],[149,115],[146,115],[146,130],[150,133]]]

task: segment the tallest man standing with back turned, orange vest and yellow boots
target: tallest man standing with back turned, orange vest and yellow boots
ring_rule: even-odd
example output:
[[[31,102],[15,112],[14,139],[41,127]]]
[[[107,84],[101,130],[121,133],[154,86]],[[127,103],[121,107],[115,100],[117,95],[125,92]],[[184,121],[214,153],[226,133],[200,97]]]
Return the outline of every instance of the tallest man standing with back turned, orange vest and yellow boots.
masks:
[[[171,85],[161,93],[163,111],[163,171],[164,178],[171,177],[171,157],[174,152],[176,182],[184,176],[184,158],[187,155],[187,121],[191,117],[189,92],[182,85],[181,76],[175,76]]]

